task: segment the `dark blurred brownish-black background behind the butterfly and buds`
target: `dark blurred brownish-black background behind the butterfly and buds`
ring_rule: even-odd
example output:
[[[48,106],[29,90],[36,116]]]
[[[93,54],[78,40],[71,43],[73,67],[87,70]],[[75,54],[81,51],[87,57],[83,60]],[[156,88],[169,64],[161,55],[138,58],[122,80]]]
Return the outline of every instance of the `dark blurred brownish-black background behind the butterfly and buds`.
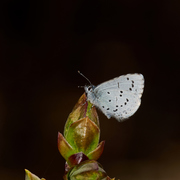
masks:
[[[180,2],[0,2],[0,179],[24,168],[62,179],[57,133],[87,84],[142,73],[137,113],[122,123],[98,111],[99,162],[122,180],[180,179]]]

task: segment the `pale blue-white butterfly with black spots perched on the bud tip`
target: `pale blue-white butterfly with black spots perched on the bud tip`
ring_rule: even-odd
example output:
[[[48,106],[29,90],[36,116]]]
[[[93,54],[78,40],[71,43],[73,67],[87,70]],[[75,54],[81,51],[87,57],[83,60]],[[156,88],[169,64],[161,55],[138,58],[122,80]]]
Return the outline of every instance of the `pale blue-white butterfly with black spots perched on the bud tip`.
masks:
[[[108,119],[114,117],[118,121],[137,111],[143,89],[142,74],[122,75],[98,86],[85,86],[87,100],[98,107]]]

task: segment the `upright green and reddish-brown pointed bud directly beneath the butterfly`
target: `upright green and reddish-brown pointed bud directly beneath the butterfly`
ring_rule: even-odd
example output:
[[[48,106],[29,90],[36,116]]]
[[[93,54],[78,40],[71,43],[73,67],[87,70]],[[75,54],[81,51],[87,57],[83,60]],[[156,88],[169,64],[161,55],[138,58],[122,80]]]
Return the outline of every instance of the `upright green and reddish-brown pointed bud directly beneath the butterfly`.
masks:
[[[72,159],[69,159],[73,154],[83,153],[88,159],[97,160],[104,148],[104,142],[99,144],[99,138],[96,109],[83,94],[68,117],[64,137],[61,133],[58,134],[59,152],[70,167],[74,166]]]

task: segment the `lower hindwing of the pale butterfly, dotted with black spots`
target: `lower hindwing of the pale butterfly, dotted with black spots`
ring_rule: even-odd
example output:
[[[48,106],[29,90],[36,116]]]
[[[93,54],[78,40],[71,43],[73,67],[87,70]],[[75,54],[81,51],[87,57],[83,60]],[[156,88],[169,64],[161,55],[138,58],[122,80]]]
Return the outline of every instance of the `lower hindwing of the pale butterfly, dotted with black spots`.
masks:
[[[118,121],[132,116],[141,104],[141,99],[135,95],[124,91],[108,89],[99,97],[95,105],[108,117],[114,117]]]

